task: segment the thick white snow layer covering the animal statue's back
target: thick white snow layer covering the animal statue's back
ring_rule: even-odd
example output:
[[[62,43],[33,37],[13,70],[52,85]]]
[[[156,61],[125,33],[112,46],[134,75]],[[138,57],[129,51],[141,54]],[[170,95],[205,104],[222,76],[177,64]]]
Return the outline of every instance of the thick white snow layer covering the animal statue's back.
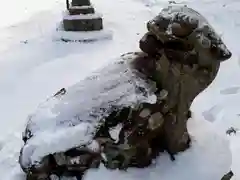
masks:
[[[154,86],[130,68],[133,58],[132,54],[125,55],[68,88],[65,95],[41,104],[28,119],[23,165],[29,167],[45,155],[90,143],[100,121],[113,109],[154,103]]]

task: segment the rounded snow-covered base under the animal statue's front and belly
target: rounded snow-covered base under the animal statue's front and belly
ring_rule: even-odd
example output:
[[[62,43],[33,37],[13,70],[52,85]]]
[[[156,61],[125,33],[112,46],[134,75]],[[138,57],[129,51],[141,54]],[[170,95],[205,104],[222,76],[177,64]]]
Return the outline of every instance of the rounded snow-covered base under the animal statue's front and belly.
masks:
[[[85,180],[219,180],[231,166],[228,140],[220,135],[211,123],[189,119],[188,130],[192,147],[171,161],[167,154],[161,155],[149,168],[129,168],[127,172],[109,171],[104,166],[89,170]],[[104,176],[102,176],[104,174]],[[100,178],[99,178],[100,177]],[[102,177],[102,178],[101,178]]]

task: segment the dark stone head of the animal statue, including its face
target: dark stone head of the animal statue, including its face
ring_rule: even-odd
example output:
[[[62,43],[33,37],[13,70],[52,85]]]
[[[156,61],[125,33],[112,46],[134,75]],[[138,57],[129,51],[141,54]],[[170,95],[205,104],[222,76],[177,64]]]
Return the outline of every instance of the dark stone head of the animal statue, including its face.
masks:
[[[181,57],[181,53],[184,56],[185,52],[192,52],[194,49],[192,53],[199,58],[198,62],[193,63],[203,66],[214,61],[220,63],[232,55],[208,21],[185,6],[169,6],[163,9],[147,23],[147,28],[147,35],[161,44],[156,48],[159,53],[164,49],[170,56],[175,53]]]

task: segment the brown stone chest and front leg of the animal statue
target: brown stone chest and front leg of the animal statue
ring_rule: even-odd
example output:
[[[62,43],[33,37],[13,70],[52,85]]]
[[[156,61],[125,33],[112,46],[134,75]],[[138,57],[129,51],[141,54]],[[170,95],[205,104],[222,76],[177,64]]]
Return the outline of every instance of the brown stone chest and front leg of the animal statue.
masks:
[[[197,58],[197,56],[196,56]],[[191,117],[190,106],[199,93],[204,91],[215,79],[220,62],[210,61],[207,67],[182,65],[180,75],[174,85],[176,92],[170,93],[169,102],[174,102],[164,119],[164,138],[166,148],[175,154],[190,146],[187,121]],[[170,103],[171,104],[171,103]]]

